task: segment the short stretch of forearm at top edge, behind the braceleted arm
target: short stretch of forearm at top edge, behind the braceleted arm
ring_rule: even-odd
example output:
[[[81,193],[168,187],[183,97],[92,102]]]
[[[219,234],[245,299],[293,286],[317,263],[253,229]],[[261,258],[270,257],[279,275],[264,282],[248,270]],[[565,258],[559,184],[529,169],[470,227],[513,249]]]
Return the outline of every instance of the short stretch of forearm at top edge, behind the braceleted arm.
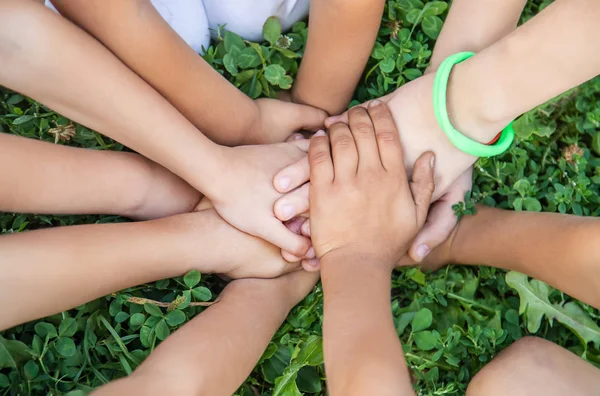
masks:
[[[526,0],[454,0],[431,56],[437,69],[449,55],[479,52],[516,29]]]

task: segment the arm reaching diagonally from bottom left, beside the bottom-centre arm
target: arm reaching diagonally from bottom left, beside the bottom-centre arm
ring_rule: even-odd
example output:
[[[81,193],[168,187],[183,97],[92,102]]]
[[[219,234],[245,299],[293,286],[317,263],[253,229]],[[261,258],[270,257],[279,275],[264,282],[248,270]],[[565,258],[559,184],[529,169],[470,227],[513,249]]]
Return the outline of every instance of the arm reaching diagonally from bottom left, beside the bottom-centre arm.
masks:
[[[133,375],[94,395],[233,394],[317,278],[300,271],[277,279],[231,282],[217,304],[160,344]]]

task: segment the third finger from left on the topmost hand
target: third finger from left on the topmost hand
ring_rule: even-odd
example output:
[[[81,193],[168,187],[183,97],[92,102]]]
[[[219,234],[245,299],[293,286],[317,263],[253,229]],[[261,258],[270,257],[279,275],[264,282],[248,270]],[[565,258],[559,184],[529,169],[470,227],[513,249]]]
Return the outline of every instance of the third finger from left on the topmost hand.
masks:
[[[358,151],[358,171],[381,168],[375,128],[364,107],[354,107],[348,112],[350,130]]]

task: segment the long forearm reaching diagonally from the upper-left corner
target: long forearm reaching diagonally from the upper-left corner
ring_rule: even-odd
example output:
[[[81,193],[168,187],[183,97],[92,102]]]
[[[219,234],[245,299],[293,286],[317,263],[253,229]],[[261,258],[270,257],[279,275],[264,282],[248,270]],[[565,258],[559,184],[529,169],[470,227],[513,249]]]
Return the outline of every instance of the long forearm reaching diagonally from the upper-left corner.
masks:
[[[135,149],[202,192],[216,187],[223,149],[100,43],[31,1],[0,1],[0,25],[0,84]]]

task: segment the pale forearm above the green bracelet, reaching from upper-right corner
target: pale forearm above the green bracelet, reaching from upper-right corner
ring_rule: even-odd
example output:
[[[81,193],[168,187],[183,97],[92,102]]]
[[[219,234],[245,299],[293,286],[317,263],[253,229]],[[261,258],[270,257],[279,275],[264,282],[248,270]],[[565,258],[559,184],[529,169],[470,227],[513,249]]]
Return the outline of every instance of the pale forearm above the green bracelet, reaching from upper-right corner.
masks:
[[[479,141],[490,141],[498,125],[596,76],[600,55],[586,48],[595,45],[599,18],[596,0],[557,0],[457,65],[448,91],[454,126]],[[463,128],[474,124],[473,117],[483,126]]]

